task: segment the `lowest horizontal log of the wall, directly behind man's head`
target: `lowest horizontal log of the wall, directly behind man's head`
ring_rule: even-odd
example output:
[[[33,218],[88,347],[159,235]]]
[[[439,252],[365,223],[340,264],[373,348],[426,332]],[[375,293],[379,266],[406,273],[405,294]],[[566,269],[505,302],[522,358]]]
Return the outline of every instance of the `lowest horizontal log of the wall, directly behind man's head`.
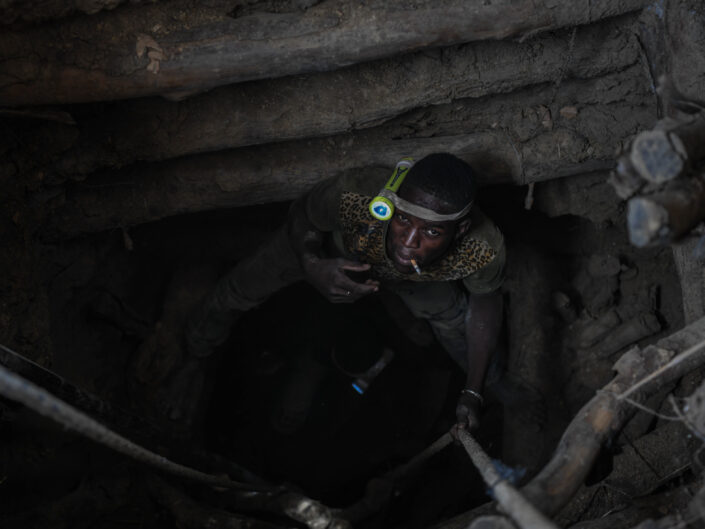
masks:
[[[545,139],[545,138],[544,138]],[[359,141],[356,141],[359,140]],[[528,146],[525,146],[528,148]],[[346,138],[267,145],[105,173],[70,189],[47,220],[47,240],[70,238],[184,213],[293,200],[345,171],[387,173],[397,160],[450,152],[478,168],[485,184],[526,184],[607,169],[610,159],[525,163],[502,133],[380,140]],[[541,169],[553,163],[553,171]]]

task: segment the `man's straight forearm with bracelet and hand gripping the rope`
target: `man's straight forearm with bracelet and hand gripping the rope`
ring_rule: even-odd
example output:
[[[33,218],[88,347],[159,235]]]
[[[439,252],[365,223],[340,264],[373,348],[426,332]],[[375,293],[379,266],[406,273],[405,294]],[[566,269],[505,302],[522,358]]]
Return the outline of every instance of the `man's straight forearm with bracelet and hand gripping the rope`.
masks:
[[[470,430],[477,428],[482,400],[482,387],[502,326],[502,295],[497,290],[489,294],[470,294],[465,315],[468,373],[456,415],[458,426]]]

